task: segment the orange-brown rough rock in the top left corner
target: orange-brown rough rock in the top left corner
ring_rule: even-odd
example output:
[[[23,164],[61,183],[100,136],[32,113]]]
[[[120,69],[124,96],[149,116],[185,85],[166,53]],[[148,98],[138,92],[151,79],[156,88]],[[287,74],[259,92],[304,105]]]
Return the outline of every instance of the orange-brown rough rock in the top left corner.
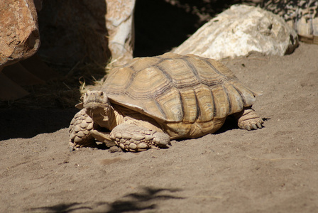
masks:
[[[33,0],[0,1],[0,70],[39,48],[38,16]]]

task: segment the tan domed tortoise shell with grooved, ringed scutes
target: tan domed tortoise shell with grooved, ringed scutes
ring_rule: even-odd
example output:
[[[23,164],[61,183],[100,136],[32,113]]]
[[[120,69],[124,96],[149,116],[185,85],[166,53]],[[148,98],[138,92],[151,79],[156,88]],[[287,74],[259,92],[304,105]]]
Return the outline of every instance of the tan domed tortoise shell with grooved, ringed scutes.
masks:
[[[111,102],[155,119],[172,138],[216,131],[258,94],[217,60],[174,53],[115,68],[102,90]]]

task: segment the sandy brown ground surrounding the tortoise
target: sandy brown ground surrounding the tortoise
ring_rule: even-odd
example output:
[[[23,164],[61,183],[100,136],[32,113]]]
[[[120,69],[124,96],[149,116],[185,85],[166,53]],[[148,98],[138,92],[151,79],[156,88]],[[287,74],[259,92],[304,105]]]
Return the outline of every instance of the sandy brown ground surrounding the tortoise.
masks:
[[[0,212],[318,212],[317,55],[224,60],[263,91],[265,128],[230,119],[168,149],[70,153],[76,109],[0,109]]]

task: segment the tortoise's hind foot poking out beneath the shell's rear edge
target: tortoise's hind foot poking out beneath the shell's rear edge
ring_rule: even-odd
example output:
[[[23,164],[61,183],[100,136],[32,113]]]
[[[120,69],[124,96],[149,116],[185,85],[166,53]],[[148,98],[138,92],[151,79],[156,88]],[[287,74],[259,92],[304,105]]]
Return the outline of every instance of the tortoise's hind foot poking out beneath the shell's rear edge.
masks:
[[[251,107],[244,108],[241,112],[234,114],[238,121],[240,129],[261,129],[263,127],[263,119]]]

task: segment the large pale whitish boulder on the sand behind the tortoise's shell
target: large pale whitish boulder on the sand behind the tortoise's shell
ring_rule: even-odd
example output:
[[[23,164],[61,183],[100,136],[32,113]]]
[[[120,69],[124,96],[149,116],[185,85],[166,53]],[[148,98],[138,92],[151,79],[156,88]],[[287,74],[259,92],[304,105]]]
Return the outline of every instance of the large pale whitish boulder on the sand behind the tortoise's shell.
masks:
[[[205,23],[172,52],[219,60],[252,51],[285,55],[297,45],[297,33],[283,18],[254,6],[234,5]]]

